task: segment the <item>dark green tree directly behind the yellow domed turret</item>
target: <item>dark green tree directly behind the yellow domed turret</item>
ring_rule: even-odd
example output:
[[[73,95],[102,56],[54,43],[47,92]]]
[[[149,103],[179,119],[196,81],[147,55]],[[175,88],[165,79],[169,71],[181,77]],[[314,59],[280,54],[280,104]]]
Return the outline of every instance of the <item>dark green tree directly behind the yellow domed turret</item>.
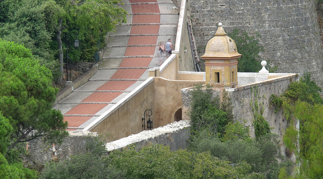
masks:
[[[261,70],[259,53],[263,47],[259,45],[260,35],[249,35],[244,30],[234,29],[228,34],[236,43],[237,51],[242,55],[238,59],[238,72],[258,72]]]

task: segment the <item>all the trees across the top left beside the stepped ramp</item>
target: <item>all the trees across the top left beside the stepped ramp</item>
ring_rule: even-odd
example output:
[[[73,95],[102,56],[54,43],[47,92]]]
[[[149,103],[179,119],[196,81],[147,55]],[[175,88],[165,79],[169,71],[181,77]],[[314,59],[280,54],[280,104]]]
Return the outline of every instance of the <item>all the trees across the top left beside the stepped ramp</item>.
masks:
[[[3,0],[0,38],[30,49],[60,84],[63,53],[73,47],[74,39],[80,41],[80,48],[69,49],[71,61],[94,61],[94,53],[104,46],[107,32],[126,22],[127,12],[118,3],[122,1]]]

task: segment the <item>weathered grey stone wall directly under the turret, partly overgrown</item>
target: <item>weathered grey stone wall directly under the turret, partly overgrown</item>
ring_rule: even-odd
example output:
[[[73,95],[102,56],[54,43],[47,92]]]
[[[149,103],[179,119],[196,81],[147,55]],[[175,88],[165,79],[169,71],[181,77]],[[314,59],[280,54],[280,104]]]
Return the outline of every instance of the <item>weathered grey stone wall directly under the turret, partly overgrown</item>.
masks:
[[[270,127],[273,128],[272,132],[276,133],[282,141],[288,121],[285,119],[282,110],[275,114],[275,107],[272,107],[270,105],[270,97],[272,94],[275,94],[277,96],[282,95],[288,88],[289,84],[297,80],[299,80],[298,74],[286,74],[284,76],[267,79],[260,82],[241,85],[236,88],[214,88],[212,90],[212,96],[218,96],[221,100],[223,100],[223,92],[227,91],[233,105],[234,120],[243,123],[245,126],[248,126],[251,137],[255,137],[252,104],[254,104],[254,102],[257,102],[259,108],[263,109],[262,116],[268,122]],[[188,114],[192,101],[192,90],[192,87],[182,89],[183,120],[189,119]],[[285,151],[283,147],[282,151],[283,153]]]

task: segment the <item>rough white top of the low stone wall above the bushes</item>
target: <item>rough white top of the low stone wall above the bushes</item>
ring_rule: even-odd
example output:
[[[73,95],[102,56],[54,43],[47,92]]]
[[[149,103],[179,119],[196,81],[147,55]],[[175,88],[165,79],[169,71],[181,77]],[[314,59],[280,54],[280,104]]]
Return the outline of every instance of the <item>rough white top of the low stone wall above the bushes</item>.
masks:
[[[183,129],[185,127],[190,127],[190,120],[181,120],[178,122],[173,122],[165,126],[154,128],[152,130],[143,130],[135,135],[131,135],[117,141],[113,141],[105,144],[107,151],[117,150],[126,147],[130,144],[147,141],[149,139],[156,138],[160,135],[165,135],[167,133],[172,133],[177,130]]]

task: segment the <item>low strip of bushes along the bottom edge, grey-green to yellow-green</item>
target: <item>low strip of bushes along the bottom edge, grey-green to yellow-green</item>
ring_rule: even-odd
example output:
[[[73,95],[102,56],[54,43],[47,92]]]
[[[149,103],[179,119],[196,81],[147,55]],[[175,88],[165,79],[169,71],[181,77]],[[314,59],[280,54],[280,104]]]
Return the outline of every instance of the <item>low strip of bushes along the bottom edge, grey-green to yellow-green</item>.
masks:
[[[230,164],[208,152],[170,151],[149,145],[139,152],[133,147],[109,156],[79,154],[59,163],[49,163],[41,178],[259,178],[246,162]]]

